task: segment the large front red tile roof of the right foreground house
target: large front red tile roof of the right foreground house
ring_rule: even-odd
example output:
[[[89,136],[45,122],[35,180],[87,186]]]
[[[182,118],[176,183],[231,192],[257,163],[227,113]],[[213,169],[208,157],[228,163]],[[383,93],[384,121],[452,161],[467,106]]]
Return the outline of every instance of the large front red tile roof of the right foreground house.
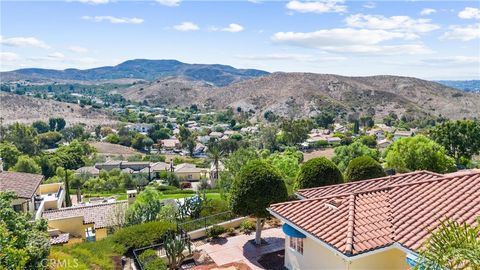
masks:
[[[474,224],[480,216],[480,172],[332,194],[270,211],[347,256],[394,243],[416,251],[442,220]]]

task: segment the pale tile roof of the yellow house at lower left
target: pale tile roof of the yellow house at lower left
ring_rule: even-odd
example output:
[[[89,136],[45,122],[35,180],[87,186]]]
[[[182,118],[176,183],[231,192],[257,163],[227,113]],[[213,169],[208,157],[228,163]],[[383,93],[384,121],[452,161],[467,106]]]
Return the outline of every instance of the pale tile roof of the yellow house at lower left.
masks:
[[[125,211],[126,209],[127,201],[119,201],[45,211],[43,217],[46,219],[62,219],[82,216],[84,224],[94,223],[95,229],[99,229],[118,225],[115,215],[118,211]]]

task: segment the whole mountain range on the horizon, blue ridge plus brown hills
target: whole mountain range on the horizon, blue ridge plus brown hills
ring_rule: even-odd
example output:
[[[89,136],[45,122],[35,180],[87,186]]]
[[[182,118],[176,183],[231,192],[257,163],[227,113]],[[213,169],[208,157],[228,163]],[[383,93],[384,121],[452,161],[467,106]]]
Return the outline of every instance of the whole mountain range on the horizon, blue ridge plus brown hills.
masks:
[[[273,112],[285,117],[311,117],[325,109],[342,117],[374,110],[377,119],[390,112],[399,116],[441,115],[452,119],[480,115],[479,93],[412,77],[268,73],[225,65],[144,59],[87,70],[30,68],[0,75],[2,81],[34,79],[44,83],[71,80],[89,84],[136,79],[134,84],[116,89],[115,93],[153,105],[231,107],[257,116]]]

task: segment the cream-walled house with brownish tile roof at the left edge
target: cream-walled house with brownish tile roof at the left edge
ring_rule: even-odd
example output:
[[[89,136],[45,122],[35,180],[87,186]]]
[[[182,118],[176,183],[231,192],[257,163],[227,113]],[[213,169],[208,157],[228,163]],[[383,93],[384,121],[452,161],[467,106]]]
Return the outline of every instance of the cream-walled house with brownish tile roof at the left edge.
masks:
[[[12,207],[17,212],[28,212],[40,218],[46,209],[59,209],[65,200],[63,183],[40,185],[43,175],[0,171],[0,191],[12,191],[17,198]]]

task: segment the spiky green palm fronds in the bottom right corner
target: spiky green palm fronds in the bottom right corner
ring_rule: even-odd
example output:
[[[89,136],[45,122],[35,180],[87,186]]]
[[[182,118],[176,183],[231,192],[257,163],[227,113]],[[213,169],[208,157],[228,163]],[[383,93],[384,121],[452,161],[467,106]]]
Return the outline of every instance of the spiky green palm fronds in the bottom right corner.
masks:
[[[480,269],[480,217],[477,226],[444,221],[420,251],[417,269]]]

